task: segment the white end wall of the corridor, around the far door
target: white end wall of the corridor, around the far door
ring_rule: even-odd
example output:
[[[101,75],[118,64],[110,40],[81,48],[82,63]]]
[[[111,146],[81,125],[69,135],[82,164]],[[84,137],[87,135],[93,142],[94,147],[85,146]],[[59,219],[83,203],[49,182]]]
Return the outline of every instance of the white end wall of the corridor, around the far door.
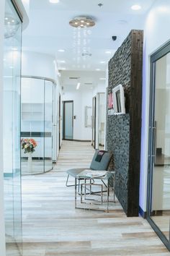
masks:
[[[73,140],[91,140],[91,128],[84,126],[85,106],[92,107],[92,90],[65,90],[62,101],[73,101]],[[92,113],[92,111],[91,111]]]

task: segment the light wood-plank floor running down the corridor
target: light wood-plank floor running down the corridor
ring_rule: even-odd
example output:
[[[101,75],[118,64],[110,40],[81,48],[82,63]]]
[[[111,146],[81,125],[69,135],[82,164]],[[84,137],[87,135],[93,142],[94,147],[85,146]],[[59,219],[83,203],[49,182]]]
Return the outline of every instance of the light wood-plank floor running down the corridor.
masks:
[[[22,177],[23,255],[170,255],[148,222],[127,218],[118,202],[111,213],[74,209],[66,170],[89,166],[93,154],[86,142],[64,141],[53,171]]]

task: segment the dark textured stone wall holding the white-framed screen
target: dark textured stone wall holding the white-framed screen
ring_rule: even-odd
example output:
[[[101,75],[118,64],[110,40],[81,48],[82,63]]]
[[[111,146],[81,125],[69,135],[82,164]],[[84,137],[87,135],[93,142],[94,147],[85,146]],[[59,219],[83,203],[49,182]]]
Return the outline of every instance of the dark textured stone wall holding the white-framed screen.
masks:
[[[132,30],[109,61],[109,86],[122,84],[126,114],[107,115],[107,150],[113,153],[115,193],[127,216],[138,216],[143,31]]]

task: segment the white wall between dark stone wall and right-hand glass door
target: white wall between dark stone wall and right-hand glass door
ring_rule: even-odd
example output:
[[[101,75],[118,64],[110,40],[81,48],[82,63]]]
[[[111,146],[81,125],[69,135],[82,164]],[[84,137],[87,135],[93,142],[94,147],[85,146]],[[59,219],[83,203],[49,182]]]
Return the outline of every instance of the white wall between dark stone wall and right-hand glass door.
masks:
[[[170,40],[170,1],[157,0],[146,17],[144,30],[143,55],[143,114],[142,145],[140,164],[140,207],[146,211],[147,174],[148,174],[148,114],[150,70],[149,56],[167,40]]]

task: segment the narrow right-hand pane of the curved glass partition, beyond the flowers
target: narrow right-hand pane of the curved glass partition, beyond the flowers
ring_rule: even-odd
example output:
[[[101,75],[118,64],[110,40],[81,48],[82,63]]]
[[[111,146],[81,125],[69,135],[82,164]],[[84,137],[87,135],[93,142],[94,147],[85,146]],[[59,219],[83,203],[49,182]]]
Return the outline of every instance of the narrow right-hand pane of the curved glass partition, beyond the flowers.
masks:
[[[45,171],[53,168],[53,82],[45,81]]]

